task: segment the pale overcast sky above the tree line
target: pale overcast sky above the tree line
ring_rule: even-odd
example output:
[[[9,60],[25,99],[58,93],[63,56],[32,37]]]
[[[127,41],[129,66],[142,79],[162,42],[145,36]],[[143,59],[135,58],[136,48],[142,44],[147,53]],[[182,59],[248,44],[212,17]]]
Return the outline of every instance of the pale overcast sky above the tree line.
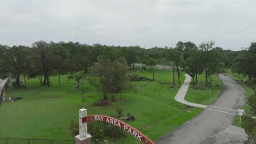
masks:
[[[0,0],[0,44],[34,41],[175,46],[214,40],[240,50],[256,41],[254,0]]]

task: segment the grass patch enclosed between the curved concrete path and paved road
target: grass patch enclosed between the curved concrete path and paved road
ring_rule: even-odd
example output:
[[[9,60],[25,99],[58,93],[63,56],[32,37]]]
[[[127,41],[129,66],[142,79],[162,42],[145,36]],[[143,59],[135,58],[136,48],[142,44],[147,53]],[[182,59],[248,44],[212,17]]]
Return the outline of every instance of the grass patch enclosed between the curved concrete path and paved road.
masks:
[[[204,74],[197,77],[197,80],[199,82],[196,83],[196,86],[205,85]],[[222,81],[220,81],[217,76],[212,75],[208,79],[208,89],[206,90],[194,89],[193,83],[191,83],[184,99],[192,103],[211,105],[212,102],[217,99],[217,97],[221,92],[222,92]]]

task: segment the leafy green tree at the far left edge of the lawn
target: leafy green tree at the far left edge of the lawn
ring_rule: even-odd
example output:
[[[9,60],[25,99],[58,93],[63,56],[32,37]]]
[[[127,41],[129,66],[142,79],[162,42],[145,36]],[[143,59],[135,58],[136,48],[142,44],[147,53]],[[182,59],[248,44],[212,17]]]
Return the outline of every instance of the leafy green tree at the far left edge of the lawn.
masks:
[[[28,66],[28,48],[26,46],[13,46],[3,55],[0,61],[0,77],[5,79],[12,77],[15,79],[15,87],[20,88],[20,75],[23,74]]]

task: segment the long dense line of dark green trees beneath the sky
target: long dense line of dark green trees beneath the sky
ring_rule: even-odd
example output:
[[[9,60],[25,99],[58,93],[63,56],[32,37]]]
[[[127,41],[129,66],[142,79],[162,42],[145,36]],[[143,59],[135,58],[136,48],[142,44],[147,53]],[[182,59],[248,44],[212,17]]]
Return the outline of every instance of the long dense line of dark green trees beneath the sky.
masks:
[[[40,40],[30,47],[0,45],[0,77],[12,77],[16,80],[13,86],[18,88],[21,87],[21,75],[24,76],[25,85],[28,76],[28,79],[38,77],[41,86],[50,87],[50,76],[62,74],[69,74],[70,79],[79,83],[83,75],[81,72],[79,75],[78,71],[88,74],[90,67],[105,61],[128,65],[130,70],[134,70],[135,63],[151,69],[156,64],[168,65],[171,67],[173,85],[176,84],[175,74],[178,75],[178,85],[181,85],[179,77],[182,71],[193,78],[193,83],[197,81],[198,74],[205,72],[207,86],[210,75],[223,73],[223,65],[231,66],[232,52],[215,47],[214,41],[199,46],[190,41],[179,41],[175,47],[143,49],[140,46],[86,45],[72,41],[46,43]]]

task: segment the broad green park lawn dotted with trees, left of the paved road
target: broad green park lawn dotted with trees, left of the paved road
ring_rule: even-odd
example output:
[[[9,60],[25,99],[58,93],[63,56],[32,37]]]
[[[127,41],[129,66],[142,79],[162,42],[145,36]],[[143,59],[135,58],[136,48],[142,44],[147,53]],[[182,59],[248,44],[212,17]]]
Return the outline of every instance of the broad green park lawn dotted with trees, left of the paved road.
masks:
[[[136,68],[139,74],[153,79],[152,70]],[[154,69],[155,79],[162,82],[172,82],[171,70]],[[181,83],[184,81],[184,73],[181,75]],[[75,81],[68,81],[67,76],[61,76],[61,86],[58,85],[58,77],[51,77],[51,87],[40,87],[38,79],[27,80],[26,88],[7,89],[7,97],[22,97],[22,100],[4,102],[0,106],[0,137],[32,138],[32,139],[66,139],[72,140],[69,134],[69,124],[72,118],[78,117],[78,110],[85,108],[88,115],[113,115],[116,106],[122,106],[124,114],[130,113],[136,121],[127,122],[137,128],[150,139],[156,140],[169,131],[198,115],[203,109],[189,109],[191,113],[184,112],[187,106],[174,100],[180,86],[171,87],[171,84],[160,82],[139,81],[132,82],[136,91],[126,91],[118,101],[111,102],[111,106],[93,106],[98,100],[95,89],[84,82],[85,101],[81,94],[73,91]],[[177,76],[176,76],[177,80]],[[203,83],[203,75],[199,76]],[[213,78],[212,81],[218,81]],[[210,104],[216,97],[220,88],[211,91],[194,90],[189,88],[189,100],[202,99],[202,104]],[[206,93],[205,98],[201,93]],[[198,98],[197,98],[198,97]],[[200,98],[199,98],[200,97]],[[200,102],[200,101],[199,101]],[[88,123],[90,124],[90,123]],[[127,134],[125,139],[112,140],[106,137],[109,143],[139,143],[139,141]]]

